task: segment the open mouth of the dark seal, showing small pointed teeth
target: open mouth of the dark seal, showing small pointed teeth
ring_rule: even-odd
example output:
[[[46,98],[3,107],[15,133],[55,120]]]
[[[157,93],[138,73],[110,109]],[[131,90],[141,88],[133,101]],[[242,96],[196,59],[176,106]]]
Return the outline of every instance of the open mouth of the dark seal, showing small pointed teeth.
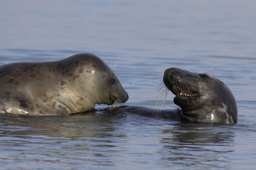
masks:
[[[174,85],[171,90],[176,96],[179,96],[181,98],[198,98],[200,96],[199,92],[193,91],[189,88],[184,89],[179,87],[178,85]]]

